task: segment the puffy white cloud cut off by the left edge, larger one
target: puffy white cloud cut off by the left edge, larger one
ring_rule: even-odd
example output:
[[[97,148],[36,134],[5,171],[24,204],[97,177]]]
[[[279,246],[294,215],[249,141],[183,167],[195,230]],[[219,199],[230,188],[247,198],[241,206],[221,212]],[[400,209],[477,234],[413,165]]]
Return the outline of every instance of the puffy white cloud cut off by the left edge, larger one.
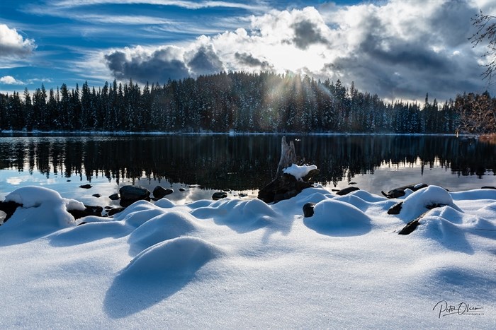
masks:
[[[0,57],[24,57],[35,48],[34,40],[24,39],[15,28],[0,24]]]

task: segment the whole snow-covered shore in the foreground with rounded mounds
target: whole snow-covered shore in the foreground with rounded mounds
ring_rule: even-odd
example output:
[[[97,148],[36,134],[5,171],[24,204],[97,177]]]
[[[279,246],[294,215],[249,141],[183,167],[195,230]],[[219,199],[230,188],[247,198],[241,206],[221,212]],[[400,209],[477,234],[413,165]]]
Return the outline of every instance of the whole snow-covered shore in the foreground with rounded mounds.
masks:
[[[24,207],[0,226],[0,329],[496,329],[496,190],[316,187],[79,220],[50,189],[6,199]]]

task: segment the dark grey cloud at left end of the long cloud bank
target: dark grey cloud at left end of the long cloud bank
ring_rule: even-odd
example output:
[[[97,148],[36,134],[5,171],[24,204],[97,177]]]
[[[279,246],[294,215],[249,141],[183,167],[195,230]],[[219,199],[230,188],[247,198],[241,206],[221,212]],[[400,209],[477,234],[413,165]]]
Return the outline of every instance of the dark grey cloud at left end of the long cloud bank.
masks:
[[[181,79],[189,76],[183,61],[174,58],[169,47],[157,49],[150,55],[140,52],[128,54],[114,51],[106,54],[106,64],[115,78],[128,79],[145,83],[147,81],[164,83],[169,78]]]

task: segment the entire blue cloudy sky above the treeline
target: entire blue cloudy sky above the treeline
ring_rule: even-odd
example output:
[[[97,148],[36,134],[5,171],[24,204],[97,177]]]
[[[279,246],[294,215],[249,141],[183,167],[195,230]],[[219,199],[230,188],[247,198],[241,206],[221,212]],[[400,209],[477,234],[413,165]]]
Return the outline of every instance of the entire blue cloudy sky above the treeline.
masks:
[[[3,0],[0,93],[219,71],[352,81],[385,100],[495,94],[470,18],[491,0]]]

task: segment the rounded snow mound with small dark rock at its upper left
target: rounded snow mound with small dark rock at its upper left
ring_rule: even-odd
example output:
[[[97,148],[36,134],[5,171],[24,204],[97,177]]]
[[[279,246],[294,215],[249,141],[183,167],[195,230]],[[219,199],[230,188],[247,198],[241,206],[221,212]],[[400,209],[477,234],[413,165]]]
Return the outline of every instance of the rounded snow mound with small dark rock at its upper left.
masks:
[[[356,206],[334,199],[315,204],[314,215],[303,222],[308,228],[329,236],[363,235],[371,230],[371,218]]]

